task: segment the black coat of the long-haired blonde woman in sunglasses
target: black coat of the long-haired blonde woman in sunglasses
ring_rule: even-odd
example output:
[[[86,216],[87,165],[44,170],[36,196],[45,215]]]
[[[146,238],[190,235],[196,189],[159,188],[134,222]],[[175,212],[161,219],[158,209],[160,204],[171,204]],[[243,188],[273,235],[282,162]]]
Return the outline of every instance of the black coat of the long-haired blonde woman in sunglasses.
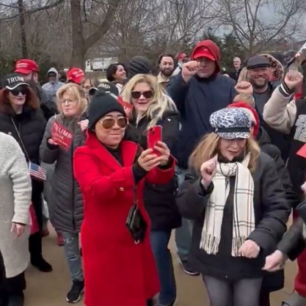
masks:
[[[132,119],[131,123],[136,129],[134,132],[131,131],[131,127],[129,129],[129,139],[133,138],[131,133],[135,133],[132,140],[137,141],[144,149],[147,148],[146,135],[149,121],[149,118],[143,117],[136,124],[135,120]],[[179,135],[179,124],[180,116],[174,111],[165,112],[162,119],[157,122],[157,125],[163,127],[163,141],[169,147],[170,152]],[[173,179],[168,184],[145,184],[144,205],[151,220],[151,230],[168,231],[181,226],[181,214],[175,202],[177,188],[176,176],[173,176]]]

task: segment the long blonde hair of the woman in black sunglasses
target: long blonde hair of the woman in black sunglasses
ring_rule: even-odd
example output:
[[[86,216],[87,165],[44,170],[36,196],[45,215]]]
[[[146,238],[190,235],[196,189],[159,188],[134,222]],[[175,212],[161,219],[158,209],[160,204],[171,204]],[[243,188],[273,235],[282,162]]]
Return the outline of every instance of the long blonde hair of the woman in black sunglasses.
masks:
[[[120,96],[127,103],[132,104],[132,91],[136,84],[146,83],[153,91],[153,96],[151,98],[151,104],[148,107],[146,116],[150,118],[150,122],[147,126],[149,129],[152,126],[155,126],[157,122],[162,119],[163,114],[167,110],[177,111],[177,108],[173,100],[167,96],[161,86],[157,83],[157,80],[152,75],[148,74],[137,74],[133,77],[123,88]],[[140,120],[140,115],[137,113],[137,122]]]

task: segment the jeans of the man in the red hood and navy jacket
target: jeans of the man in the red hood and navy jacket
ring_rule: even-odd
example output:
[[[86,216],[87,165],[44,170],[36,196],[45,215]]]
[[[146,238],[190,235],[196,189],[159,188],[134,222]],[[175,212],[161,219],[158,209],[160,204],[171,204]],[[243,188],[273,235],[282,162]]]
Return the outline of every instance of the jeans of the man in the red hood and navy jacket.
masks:
[[[186,169],[176,168],[177,176],[179,177],[179,186],[185,181]],[[175,230],[175,243],[177,247],[177,255],[181,261],[188,260],[188,254],[191,247],[193,230],[193,221],[182,218],[182,226]]]

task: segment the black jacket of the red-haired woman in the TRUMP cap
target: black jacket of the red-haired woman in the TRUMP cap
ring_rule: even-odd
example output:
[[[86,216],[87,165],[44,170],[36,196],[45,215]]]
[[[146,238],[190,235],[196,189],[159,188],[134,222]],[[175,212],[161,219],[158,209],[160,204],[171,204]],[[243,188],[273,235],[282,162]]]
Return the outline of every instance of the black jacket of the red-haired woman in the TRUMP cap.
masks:
[[[25,152],[14,123],[22,139]],[[43,137],[46,120],[40,109],[34,110],[28,106],[23,108],[21,114],[16,114],[10,105],[0,106],[0,132],[12,135],[19,143],[25,157],[39,164],[39,146]]]

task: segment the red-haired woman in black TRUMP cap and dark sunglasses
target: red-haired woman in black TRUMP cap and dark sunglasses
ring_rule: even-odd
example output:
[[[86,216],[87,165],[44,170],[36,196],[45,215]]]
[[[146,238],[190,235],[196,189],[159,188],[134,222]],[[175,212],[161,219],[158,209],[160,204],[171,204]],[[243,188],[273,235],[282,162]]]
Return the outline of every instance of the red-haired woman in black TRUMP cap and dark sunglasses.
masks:
[[[22,75],[11,73],[4,78],[0,91],[0,132],[9,134],[19,143],[27,162],[40,165],[39,146],[46,121],[39,100]],[[32,204],[40,231],[42,230],[43,182],[32,176]],[[41,233],[30,236],[31,263],[42,272],[52,267],[42,257]]]

